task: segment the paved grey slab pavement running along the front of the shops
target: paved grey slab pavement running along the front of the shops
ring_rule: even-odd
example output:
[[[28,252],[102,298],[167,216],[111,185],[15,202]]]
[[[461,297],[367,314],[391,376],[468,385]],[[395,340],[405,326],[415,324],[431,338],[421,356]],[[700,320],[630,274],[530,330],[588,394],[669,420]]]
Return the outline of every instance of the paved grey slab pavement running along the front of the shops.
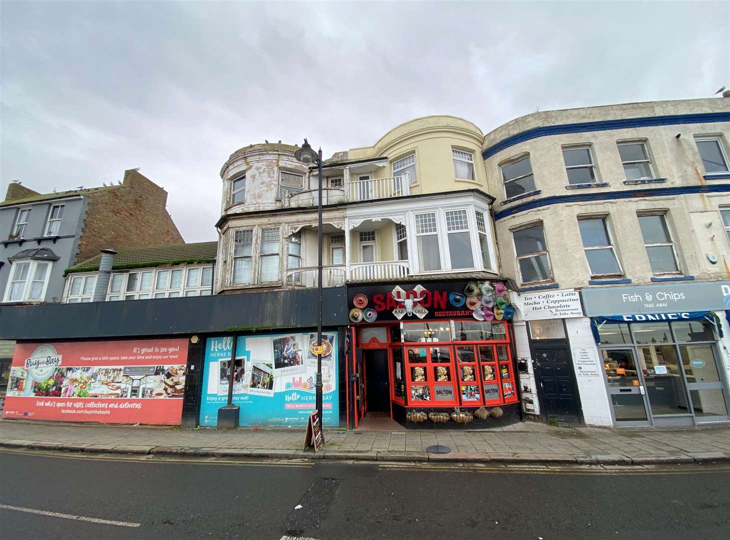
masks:
[[[228,458],[310,458],[472,463],[648,465],[730,462],[730,426],[683,429],[566,428],[524,422],[479,431],[325,430],[304,450],[304,430],[164,428],[0,420],[0,447]],[[427,447],[440,444],[447,454]]]

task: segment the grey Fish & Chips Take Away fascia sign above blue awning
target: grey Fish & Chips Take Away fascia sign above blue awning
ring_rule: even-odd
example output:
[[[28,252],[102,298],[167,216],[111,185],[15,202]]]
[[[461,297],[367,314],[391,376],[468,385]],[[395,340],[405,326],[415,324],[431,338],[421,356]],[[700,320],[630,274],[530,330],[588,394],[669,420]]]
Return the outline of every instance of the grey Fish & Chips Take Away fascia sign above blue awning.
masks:
[[[730,281],[585,288],[585,315],[632,315],[730,309]]]

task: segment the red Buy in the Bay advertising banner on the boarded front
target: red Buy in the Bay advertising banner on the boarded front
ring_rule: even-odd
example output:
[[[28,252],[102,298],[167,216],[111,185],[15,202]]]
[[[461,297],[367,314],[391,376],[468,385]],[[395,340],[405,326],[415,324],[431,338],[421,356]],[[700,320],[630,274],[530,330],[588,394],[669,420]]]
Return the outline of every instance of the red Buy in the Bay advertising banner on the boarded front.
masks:
[[[4,418],[180,425],[187,339],[18,343]]]

